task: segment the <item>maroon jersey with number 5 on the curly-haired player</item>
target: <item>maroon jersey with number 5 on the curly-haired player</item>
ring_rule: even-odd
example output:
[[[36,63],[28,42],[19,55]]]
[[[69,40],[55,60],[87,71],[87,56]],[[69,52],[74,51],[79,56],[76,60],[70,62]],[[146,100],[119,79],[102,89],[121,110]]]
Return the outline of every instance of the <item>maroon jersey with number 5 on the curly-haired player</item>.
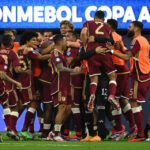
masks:
[[[34,70],[34,63],[32,60],[37,59],[38,56],[38,52],[36,52],[35,50],[30,51],[28,54],[24,54],[24,49],[20,49],[18,52],[18,56],[20,58],[20,64],[22,69],[28,70],[31,69],[32,72]],[[33,79],[33,74],[32,75],[28,75],[28,74],[20,74],[17,77],[17,80],[19,82],[21,82],[23,88],[29,87],[31,86],[31,80]]]

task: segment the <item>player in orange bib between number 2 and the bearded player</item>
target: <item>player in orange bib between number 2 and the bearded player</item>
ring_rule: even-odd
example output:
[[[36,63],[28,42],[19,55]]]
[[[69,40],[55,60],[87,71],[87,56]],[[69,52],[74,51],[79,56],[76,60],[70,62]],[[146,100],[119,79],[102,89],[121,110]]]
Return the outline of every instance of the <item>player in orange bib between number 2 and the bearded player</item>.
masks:
[[[122,37],[116,33],[118,22],[115,19],[108,19],[107,23],[111,26],[112,30],[112,38],[117,46],[117,43],[122,41]],[[118,46],[119,49],[119,46]],[[117,48],[114,51],[123,53]],[[132,137],[136,134],[137,127],[134,122],[134,116],[132,113],[131,105],[128,102],[129,100],[129,77],[130,77],[130,70],[126,64],[126,62],[116,56],[112,56],[113,63],[115,64],[115,68],[117,69],[117,91],[116,91],[116,100],[120,103],[121,108],[119,110],[112,110],[112,115],[115,120],[115,127],[113,129],[112,135],[110,139],[121,139],[122,136],[125,135],[124,126],[122,126],[121,122],[121,109],[125,115],[129,123],[129,133],[126,135],[126,138]]]

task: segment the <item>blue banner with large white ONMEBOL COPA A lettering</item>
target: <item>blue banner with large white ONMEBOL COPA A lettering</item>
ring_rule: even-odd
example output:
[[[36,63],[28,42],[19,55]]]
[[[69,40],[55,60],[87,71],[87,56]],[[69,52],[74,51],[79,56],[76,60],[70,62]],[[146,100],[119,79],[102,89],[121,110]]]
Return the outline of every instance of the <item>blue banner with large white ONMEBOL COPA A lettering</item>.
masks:
[[[1,0],[0,28],[59,28],[62,20],[70,20],[82,28],[97,10],[118,20],[119,28],[128,28],[133,20],[150,28],[149,0]]]

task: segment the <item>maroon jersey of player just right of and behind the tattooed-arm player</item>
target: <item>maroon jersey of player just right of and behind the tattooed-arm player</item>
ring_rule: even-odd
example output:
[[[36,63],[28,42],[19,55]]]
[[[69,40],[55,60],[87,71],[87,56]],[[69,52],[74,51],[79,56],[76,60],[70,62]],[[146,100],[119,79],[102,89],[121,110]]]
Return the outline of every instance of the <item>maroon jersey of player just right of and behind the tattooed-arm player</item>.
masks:
[[[66,58],[69,60],[69,66],[74,68],[76,66],[81,66],[81,63],[78,59],[79,49],[78,48],[68,48],[66,53]],[[73,75],[70,78],[71,86],[75,88],[82,87],[82,75]]]

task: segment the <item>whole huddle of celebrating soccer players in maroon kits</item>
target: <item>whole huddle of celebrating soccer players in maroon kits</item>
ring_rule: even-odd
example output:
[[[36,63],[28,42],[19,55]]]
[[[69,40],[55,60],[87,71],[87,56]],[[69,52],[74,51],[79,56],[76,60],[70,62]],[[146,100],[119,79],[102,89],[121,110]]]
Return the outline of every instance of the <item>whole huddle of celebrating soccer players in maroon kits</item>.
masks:
[[[60,23],[60,34],[26,31],[20,44],[14,42],[15,30],[4,32],[0,104],[7,136],[33,139],[37,112],[41,140],[100,142],[109,135],[106,117],[113,126],[109,140],[148,138],[150,121],[143,131],[142,103],[150,87],[150,46],[141,35],[143,24],[131,22],[127,36],[133,39],[127,48],[116,32],[117,21],[104,21],[104,12],[97,11],[84,23],[80,39],[67,20]],[[17,120],[25,109],[23,128],[17,132]],[[75,135],[70,137],[72,118]]]

